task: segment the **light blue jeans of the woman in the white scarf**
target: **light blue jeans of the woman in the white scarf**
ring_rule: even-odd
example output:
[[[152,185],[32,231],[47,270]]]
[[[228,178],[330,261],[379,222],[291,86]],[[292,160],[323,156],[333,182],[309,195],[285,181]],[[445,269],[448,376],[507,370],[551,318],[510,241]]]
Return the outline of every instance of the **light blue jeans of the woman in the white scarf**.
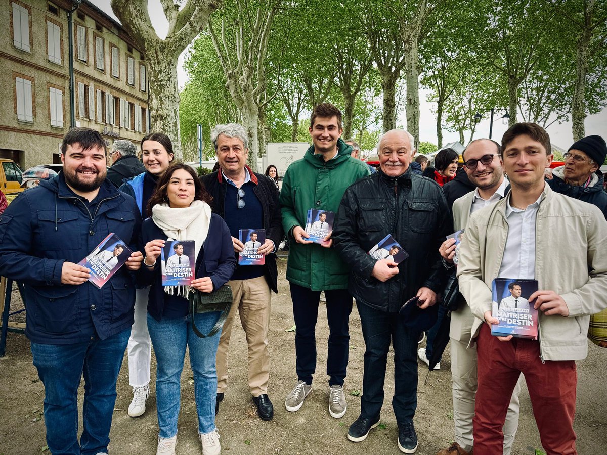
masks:
[[[217,322],[219,312],[195,315],[196,327],[208,333]],[[215,399],[217,371],[215,355],[222,331],[212,337],[200,338],[192,330],[192,315],[163,318],[160,322],[148,313],[148,330],[156,354],[156,409],[160,437],[177,434],[180,409],[181,371],[189,348],[190,365],[194,372],[194,397],[198,412],[198,432],[215,430]]]

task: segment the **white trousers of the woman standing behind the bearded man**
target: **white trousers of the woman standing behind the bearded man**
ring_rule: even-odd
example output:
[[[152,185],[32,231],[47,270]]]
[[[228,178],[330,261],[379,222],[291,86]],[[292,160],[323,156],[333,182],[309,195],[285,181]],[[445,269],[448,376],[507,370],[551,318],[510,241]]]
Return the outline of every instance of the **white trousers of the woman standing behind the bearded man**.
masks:
[[[149,286],[145,289],[135,289],[135,322],[127,345],[131,387],[143,387],[150,382],[152,342],[147,321],[149,292]]]

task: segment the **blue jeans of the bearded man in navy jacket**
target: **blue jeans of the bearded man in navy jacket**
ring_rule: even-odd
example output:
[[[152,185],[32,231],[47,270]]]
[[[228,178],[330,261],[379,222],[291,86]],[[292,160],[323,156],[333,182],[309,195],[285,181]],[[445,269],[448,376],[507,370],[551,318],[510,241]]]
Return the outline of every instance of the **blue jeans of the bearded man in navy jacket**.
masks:
[[[70,345],[32,343],[33,364],[44,383],[46,443],[53,455],[107,453],[116,380],[131,329]],[[84,376],[84,430],[78,445],[78,386]]]

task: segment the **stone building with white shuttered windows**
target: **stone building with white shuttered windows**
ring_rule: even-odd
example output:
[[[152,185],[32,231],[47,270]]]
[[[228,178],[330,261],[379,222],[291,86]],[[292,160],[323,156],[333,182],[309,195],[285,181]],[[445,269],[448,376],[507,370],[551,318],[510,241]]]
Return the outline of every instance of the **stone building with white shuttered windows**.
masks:
[[[22,169],[60,163],[70,128],[67,0],[0,0],[0,158]],[[121,25],[88,0],[73,13],[75,126],[110,146],[139,147],[149,130],[144,55]]]

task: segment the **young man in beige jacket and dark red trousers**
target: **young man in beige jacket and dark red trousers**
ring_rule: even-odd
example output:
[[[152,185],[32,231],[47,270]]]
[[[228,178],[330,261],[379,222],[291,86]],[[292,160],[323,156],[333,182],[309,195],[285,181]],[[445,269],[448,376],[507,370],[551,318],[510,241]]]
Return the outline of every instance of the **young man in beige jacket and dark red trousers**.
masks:
[[[510,395],[522,372],[546,454],[577,454],[575,360],[588,354],[589,315],[607,307],[607,221],[597,207],[544,183],[552,153],[540,126],[517,123],[501,145],[512,189],[470,217],[458,265],[459,289],[476,316],[474,449],[501,452]],[[554,248],[554,239],[565,243]],[[491,314],[497,277],[538,281],[539,290],[529,297],[538,309],[538,340],[490,334],[498,323]]]

